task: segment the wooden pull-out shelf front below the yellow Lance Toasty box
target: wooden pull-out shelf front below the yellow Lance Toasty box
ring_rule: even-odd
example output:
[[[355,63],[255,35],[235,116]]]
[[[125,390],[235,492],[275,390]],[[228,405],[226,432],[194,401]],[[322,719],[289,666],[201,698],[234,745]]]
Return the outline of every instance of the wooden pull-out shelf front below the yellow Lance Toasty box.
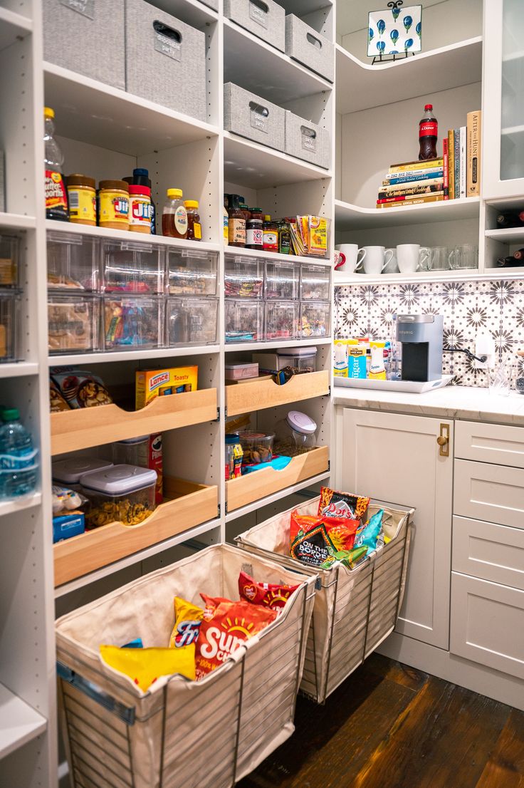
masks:
[[[100,405],[51,414],[51,454],[162,433],[217,418],[217,389],[160,396],[140,411]]]

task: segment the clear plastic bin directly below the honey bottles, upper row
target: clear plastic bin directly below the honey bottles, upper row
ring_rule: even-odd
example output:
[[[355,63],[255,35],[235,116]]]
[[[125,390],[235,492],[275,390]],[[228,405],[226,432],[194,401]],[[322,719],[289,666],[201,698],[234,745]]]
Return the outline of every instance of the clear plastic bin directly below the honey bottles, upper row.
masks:
[[[217,295],[216,252],[169,247],[166,255],[167,286],[171,296]]]

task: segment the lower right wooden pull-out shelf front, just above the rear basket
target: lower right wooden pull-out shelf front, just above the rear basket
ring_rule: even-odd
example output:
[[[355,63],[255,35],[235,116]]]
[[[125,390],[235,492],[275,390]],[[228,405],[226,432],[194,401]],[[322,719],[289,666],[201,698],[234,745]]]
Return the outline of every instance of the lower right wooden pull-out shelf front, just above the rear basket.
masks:
[[[272,495],[284,487],[291,487],[299,481],[329,470],[329,448],[320,446],[306,454],[293,457],[291,463],[283,470],[255,470],[237,479],[225,482],[225,500],[228,511],[252,504],[253,501]]]

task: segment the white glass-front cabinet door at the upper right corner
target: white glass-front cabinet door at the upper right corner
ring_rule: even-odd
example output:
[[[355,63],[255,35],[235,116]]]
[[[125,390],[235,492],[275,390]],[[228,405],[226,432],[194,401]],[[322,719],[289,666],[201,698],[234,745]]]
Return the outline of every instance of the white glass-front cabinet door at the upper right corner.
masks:
[[[485,2],[482,196],[524,194],[522,0]]]

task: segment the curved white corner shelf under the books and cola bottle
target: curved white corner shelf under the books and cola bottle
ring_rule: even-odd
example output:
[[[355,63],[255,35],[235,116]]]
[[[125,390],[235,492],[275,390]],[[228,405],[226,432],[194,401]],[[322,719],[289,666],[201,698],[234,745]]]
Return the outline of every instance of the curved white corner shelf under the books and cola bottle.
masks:
[[[479,197],[441,200],[399,208],[361,208],[335,200],[336,231],[364,230],[398,225],[423,225],[431,221],[474,219],[480,210]]]

